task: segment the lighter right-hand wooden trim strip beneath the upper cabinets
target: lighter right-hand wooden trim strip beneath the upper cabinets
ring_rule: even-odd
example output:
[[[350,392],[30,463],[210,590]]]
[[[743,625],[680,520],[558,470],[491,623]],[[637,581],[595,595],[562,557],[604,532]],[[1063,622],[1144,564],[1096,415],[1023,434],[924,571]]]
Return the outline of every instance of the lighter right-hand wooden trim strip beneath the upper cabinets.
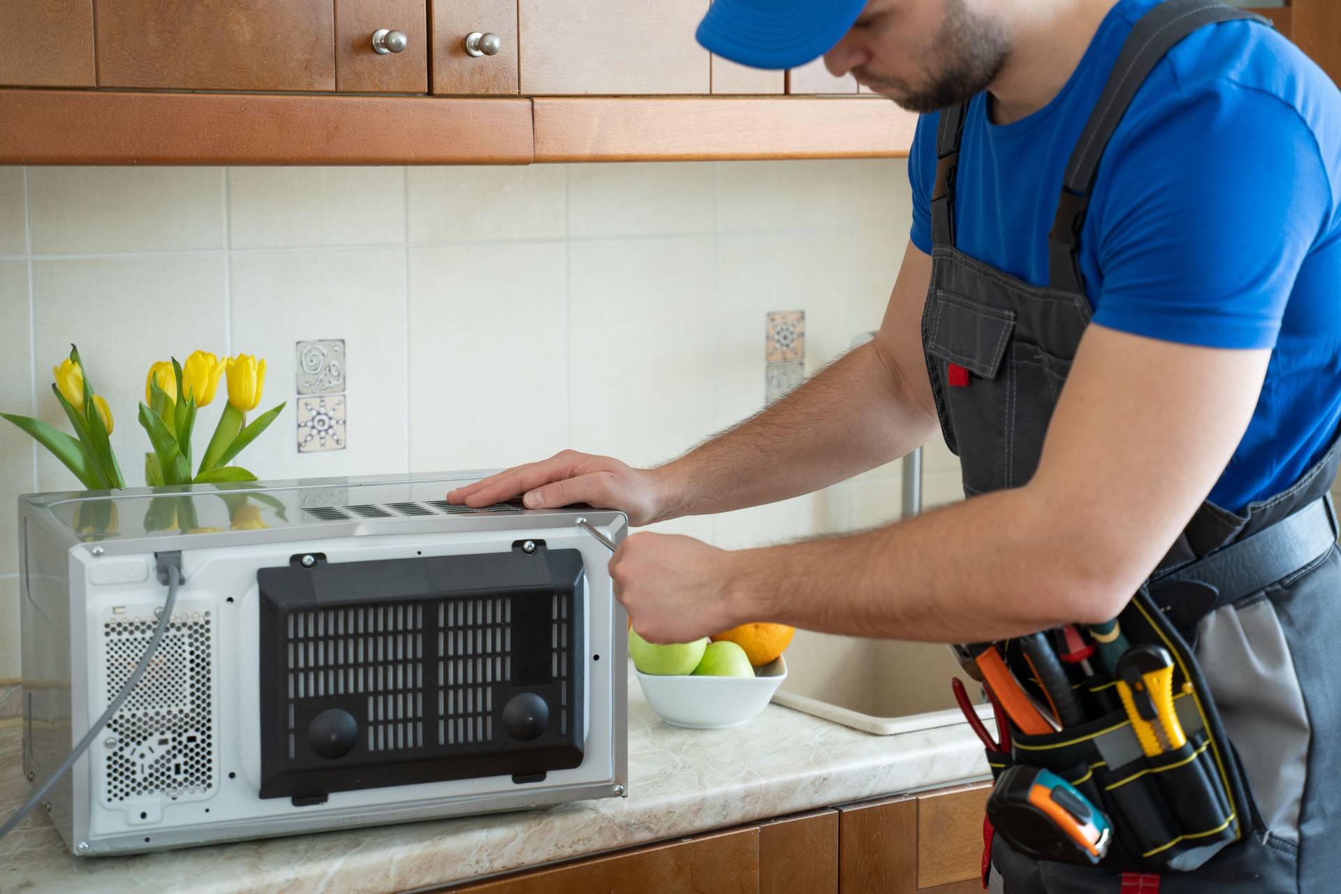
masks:
[[[902,158],[917,115],[885,99],[535,98],[535,159]]]

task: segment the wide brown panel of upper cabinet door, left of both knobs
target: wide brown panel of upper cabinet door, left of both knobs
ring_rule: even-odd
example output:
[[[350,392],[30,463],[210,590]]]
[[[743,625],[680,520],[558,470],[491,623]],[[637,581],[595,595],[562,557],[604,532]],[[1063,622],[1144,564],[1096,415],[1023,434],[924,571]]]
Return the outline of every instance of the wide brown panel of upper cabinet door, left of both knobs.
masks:
[[[99,0],[98,86],[335,90],[333,0]]]

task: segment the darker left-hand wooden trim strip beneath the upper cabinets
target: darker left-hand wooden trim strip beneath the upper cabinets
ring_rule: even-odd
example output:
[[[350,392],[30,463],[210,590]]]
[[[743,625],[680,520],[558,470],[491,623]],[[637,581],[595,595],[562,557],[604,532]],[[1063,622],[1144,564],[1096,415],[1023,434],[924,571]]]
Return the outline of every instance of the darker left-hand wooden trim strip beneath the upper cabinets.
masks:
[[[526,165],[526,99],[0,90],[0,165]]]

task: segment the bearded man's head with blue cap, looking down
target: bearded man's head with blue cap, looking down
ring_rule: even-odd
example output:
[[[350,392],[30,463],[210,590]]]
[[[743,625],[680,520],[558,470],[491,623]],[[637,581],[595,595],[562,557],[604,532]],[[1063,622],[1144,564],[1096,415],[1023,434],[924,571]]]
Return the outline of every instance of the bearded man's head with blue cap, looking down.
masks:
[[[979,0],[715,0],[699,42],[759,68],[793,68],[823,54],[909,111],[935,111],[982,92],[1010,42]]]

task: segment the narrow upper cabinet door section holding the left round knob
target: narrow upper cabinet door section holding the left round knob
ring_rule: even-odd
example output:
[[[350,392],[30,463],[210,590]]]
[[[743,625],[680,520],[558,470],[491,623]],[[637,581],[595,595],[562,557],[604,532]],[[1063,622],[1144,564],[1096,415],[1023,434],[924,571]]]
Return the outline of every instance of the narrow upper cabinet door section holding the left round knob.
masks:
[[[377,52],[381,29],[405,35],[400,52]],[[424,0],[335,0],[335,88],[342,92],[428,92]]]

